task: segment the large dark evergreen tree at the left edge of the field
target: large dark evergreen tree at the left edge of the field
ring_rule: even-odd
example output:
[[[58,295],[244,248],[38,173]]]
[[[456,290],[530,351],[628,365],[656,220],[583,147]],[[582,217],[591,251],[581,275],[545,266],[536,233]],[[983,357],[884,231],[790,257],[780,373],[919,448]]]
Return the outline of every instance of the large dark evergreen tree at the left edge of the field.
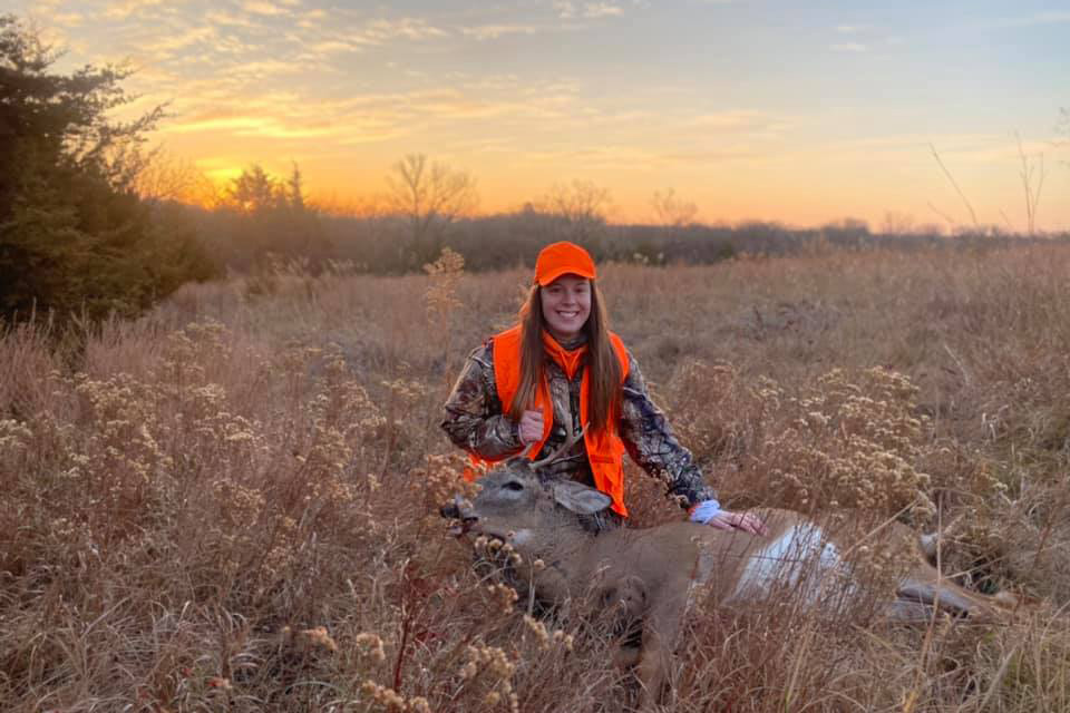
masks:
[[[128,123],[125,69],[52,74],[57,55],[0,16],[0,318],[133,316],[216,273],[189,226],[132,189],[157,107]]]

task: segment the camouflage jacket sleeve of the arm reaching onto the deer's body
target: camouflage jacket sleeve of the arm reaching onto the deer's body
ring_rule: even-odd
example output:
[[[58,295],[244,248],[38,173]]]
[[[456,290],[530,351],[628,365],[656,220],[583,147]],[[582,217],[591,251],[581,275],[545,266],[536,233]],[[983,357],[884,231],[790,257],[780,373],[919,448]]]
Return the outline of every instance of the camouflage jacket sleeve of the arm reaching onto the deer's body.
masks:
[[[649,475],[664,478],[669,494],[683,498],[684,507],[716,498],[691,451],[680,445],[665,414],[651,400],[646,381],[631,352],[628,361],[619,427],[628,455]]]

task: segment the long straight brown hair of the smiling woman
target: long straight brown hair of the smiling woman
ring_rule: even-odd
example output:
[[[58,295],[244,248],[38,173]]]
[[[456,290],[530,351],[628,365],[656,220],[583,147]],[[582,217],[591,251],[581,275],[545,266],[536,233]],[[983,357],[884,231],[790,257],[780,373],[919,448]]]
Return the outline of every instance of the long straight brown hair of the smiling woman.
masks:
[[[583,325],[583,332],[587,336],[586,369],[591,381],[587,417],[591,429],[601,431],[616,418],[617,400],[621,393],[621,363],[610,341],[605,303],[595,281],[591,280],[590,284],[591,315]],[[513,397],[513,403],[508,406],[509,418],[517,421],[525,409],[531,408],[538,384],[543,380],[546,362],[546,352],[543,348],[545,328],[542,287],[537,284],[532,285],[527,302],[521,307],[521,383]]]

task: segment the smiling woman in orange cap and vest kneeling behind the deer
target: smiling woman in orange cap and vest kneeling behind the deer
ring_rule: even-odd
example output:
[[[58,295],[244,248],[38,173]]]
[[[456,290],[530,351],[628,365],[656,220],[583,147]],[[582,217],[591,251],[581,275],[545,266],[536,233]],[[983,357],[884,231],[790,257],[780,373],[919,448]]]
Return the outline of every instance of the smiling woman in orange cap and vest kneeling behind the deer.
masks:
[[[475,459],[497,461],[525,449],[543,458],[572,442],[539,470],[613,499],[612,514],[586,521],[619,525],[624,506],[623,455],[665,479],[691,520],[760,533],[760,519],[720,509],[691,453],[673,437],[646,393],[634,358],[610,332],[591,255],[573,243],[546,246],[521,323],[477,348],[446,401],[442,428]],[[581,433],[583,438],[575,438]]]

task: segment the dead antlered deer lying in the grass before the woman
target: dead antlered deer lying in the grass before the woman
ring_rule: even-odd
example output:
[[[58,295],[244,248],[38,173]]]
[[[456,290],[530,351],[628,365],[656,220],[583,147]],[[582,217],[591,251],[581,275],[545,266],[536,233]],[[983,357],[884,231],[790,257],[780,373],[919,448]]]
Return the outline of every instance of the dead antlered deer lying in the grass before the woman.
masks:
[[[455,521],[455,536],[476,535],[484,546],[494,541],[499,551],[516,553],[524,565],[510,568],[512,584],[533,603],[583,602],[615,617],[617,632],[628,632],[616,663],[634,671],[640,709],[662,700],[683,615],[698,592],[720,605],[791,592],[807,606],[833,611],[863,595],[865,584],[849,557],[858,540],[844,541],[794,510],[756,510],[766,524],[762,535],[689,521],[588,531],[576,516],[602,511],[611,498],[578,482],[544,484],[538,477],[570,446],[542,460],[510,458],[480,479],[474,501],[457,496],[440,514]],[[970,592],[942,575],[930,560],[936,537],[920,537],[896,521],[870,534],[895,538],[911,553],[884,605],[888,621],[928,621],[937,611],[992,621],[1015,606],[1012,595]]]

